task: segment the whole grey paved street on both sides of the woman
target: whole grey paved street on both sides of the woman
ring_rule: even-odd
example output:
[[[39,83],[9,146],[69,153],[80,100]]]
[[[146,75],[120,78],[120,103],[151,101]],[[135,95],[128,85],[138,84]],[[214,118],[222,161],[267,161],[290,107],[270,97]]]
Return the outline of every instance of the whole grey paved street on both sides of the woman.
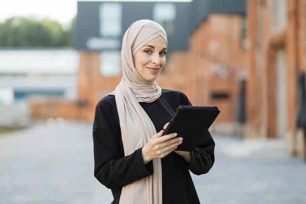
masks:
[[[93,177],[91,132],[65,122],[0,136],[0,203],[110,203]],[[215,141],[211,172],[193,176],[201,203],[306,203],[306,164],[282,140]]]

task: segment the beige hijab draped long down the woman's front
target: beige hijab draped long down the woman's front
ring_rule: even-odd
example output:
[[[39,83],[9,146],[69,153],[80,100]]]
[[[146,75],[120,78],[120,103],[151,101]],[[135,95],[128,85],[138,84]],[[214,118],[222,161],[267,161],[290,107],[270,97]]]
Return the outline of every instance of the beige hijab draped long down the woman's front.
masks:
[[[125,156],[143,147],[157,134],[156,129],[139,102],[151,103],[162,93],[155,81],[144,80],[134,67],[133,56],[146,43],[162,36],[167,43],[165,30],[155,21],[134,22],[124,34],[121,49],[123,78],[112,95],[115,95],[119,114]],[[154,174],[122,188],[120,204],[162,203],[162,165],[153,160]]]

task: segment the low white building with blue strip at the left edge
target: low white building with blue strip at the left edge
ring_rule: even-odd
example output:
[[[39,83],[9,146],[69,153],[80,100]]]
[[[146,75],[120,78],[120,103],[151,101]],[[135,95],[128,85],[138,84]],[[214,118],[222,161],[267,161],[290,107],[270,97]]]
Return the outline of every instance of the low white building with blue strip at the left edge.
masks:
[[[31,113],[53,115],[52,107],[41,109],[39,101],[76,100],[78,68],[79,54],[73,49],[2,48],[0,126],[25,123]]]

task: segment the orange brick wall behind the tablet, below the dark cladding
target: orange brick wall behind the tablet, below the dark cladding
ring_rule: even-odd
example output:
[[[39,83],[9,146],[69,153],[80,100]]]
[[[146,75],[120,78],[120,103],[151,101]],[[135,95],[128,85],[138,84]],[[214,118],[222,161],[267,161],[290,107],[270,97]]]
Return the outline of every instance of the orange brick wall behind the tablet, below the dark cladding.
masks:
[[[193,87],[188,94],[196,105],[218,106],[221,114],[216,122],[233,124],[235,121],[239,72],[246,69],[247,52],[242,49],[241,17],[213,14],[194,32],[190,39]],[[213,68],[222,65],[227,77],[218,75]],[[196,80],[195,80],[196,79]],[[212,93],[228,93],[227,99],[214,99]]]

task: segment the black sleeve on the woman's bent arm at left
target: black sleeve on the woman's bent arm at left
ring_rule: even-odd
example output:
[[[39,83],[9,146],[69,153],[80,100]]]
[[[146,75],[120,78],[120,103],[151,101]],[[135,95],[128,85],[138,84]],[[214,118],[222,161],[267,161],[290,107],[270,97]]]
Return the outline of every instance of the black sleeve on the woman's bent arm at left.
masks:
[[[122,188],[152,175],[153,164],[151,161],[144,165],[142,148],[124,157],[122,142],[118,142],[121,136],[109,124],[108,116],[112,114],[97,105],[93,128],[94,176],[107,188]]]

